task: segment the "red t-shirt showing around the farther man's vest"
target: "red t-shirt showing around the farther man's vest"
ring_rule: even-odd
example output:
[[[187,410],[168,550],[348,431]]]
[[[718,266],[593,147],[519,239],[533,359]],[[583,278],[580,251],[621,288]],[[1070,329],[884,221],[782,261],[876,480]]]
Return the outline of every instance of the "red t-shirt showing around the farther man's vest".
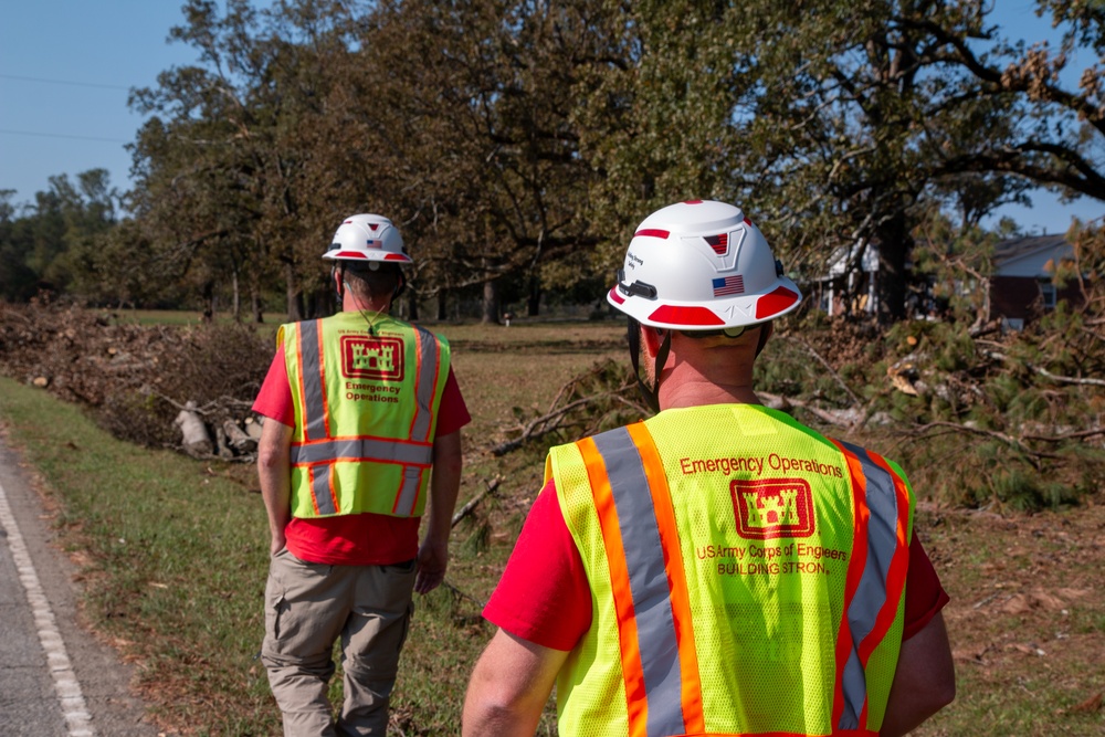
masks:
[[[284,350],[276,355],[253,402],[253,411],[290,428],[295,427],[292,385],[287,379]],[[435,436],[451,434],[472,421],[461,388],[449,369],[438,407]],[[420,517],[391,517],[364,513],[304,519],[292,517],[284,528],[287,549],[296,558],[330,566],[388,566],[418,555]]]

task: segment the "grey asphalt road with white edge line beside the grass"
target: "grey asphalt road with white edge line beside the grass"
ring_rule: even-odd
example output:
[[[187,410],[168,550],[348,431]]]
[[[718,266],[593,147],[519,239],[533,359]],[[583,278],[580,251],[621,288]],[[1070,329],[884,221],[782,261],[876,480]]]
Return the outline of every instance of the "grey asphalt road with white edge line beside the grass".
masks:
[[[157,737],[134,672],[78,623],[74,567],[0,433],[0,735]]]

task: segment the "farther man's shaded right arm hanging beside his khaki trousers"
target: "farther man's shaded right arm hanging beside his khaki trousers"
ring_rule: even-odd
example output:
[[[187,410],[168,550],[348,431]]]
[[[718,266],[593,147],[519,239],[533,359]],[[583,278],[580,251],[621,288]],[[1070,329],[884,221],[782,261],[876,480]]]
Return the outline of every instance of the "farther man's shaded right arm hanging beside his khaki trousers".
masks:
[[[429,593],[445,580],[449,565],[449,534],[453,528],[453,509],[461,489],[461,431],[435,438],[433,471],[430,476],[430,514],[425,537],[418,551],[418,577],[414,590]]]

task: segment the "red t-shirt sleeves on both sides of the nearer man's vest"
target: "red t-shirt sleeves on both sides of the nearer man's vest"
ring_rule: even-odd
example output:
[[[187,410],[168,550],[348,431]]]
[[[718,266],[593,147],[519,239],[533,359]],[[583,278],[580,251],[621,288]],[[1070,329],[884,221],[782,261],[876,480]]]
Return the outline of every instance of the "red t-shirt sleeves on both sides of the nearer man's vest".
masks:
[[[917,536],[909,545],[903,639],[920,631],[948,594]],[[503,578],[483,611],[511,634],[555,650],[571,650],[591,627],[591,590],[583,560],[568,531],[552,480],[545,484],[522,528]]]

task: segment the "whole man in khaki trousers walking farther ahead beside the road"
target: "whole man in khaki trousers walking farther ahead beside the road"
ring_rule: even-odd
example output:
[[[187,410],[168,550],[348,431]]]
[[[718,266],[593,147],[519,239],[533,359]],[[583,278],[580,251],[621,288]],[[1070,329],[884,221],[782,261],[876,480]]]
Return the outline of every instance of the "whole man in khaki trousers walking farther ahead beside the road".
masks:
[[[261,655],[285,735],[383,735],[412,591],[445,576],[471,418],[449,344],[389,315],[411,263],[394,224],[347,218],[323,259],[341,309],[281,326],[253,406],[272,536]]]

